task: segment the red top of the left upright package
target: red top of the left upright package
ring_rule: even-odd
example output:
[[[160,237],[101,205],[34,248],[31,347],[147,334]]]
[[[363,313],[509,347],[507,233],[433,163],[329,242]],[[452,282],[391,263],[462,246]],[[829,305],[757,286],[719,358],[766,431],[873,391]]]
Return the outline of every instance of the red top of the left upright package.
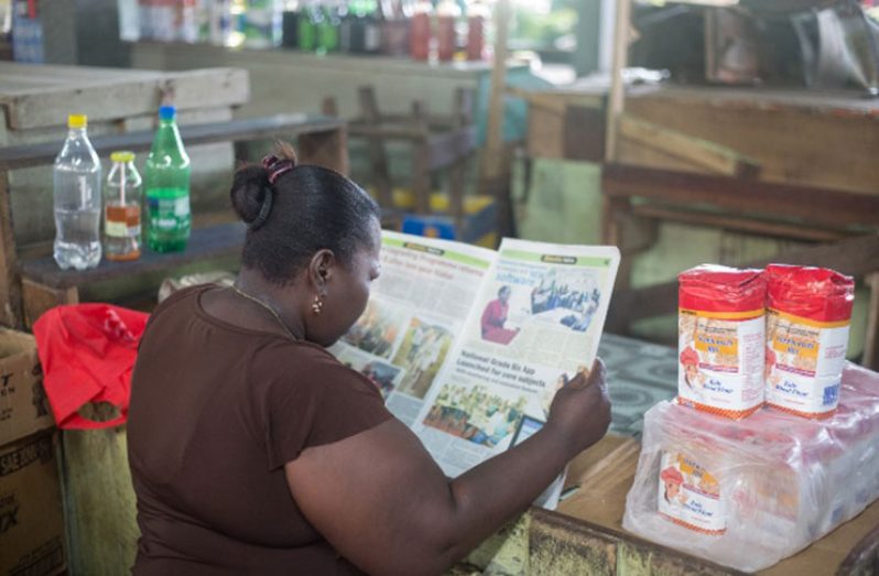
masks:
[[[679,306],[698,312],[762,311],[766,279],[760,270],[701,265],[682,272],[677,280]]]

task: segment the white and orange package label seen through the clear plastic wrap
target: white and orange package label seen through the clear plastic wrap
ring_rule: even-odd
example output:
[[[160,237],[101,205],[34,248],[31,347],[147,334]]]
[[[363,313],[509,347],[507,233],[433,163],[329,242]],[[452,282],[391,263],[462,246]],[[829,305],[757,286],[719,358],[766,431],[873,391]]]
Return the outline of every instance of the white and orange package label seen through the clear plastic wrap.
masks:
[[[676,524],[718,535],[726,532],[720,483],[683,454],[665,452],[659,475],[659,511]]]

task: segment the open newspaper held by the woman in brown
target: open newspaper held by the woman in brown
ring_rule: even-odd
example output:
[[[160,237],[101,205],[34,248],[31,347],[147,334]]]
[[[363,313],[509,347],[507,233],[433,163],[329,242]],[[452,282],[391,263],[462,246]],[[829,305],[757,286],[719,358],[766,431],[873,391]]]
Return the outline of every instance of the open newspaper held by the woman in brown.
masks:
[[[619,251],[503,239],[495,252],[384,231],[381,264],[332,351],[456,477],[540,430],[555,392],[590,369]],[[561,486],[539,503],[554,508]]]

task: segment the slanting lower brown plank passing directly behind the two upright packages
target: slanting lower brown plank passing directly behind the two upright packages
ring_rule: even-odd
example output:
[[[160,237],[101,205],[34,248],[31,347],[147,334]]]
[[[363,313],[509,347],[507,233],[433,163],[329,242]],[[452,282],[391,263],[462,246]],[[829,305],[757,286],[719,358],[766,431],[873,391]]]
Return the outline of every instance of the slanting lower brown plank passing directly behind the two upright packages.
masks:
[[[803,248],[749,262],[746,267],[763,268],[772,262],[832,268],[844,274],[862,278],[879,271],[879,236],[866,235],[839,242]],[[640,318],[674,314],[677,309],[677,282],[666,282],[614,294],[607,316],[607,330],[626,334]]]

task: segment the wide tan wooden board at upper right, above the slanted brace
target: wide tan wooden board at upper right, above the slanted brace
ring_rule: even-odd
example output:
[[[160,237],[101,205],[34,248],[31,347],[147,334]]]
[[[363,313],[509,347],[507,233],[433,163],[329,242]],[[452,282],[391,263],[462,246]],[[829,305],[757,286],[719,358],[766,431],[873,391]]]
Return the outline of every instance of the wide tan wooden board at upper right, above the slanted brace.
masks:
[[[767,182],[877,194],[877,101],[856,94],[777,93],[663,87],[632,94],[627,111],[757,159]],[[628,154],[617,161],[638,163]]]

